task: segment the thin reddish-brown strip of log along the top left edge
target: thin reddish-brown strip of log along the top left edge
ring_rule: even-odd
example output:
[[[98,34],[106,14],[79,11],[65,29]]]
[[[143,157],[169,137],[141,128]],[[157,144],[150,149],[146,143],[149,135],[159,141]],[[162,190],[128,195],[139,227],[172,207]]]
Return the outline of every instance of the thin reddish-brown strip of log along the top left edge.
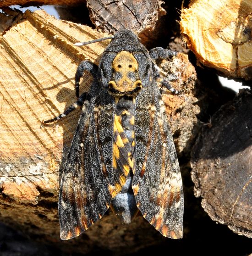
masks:
[[[85,0],[0,0],[0,7],[6,6],[43,6],[43,5],[69,5],[75,6],[82,4]]]

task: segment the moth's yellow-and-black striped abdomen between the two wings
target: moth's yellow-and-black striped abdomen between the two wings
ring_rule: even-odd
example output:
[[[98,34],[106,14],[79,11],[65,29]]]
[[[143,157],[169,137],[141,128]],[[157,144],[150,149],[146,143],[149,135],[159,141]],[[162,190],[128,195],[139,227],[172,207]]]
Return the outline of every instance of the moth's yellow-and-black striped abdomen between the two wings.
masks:
[[[124,96],[118,100],[115,111],[113,170],[115,195],[111,208],[123,223],[130,223],[137,206],[131,189],[135,172],[135,100]]]

